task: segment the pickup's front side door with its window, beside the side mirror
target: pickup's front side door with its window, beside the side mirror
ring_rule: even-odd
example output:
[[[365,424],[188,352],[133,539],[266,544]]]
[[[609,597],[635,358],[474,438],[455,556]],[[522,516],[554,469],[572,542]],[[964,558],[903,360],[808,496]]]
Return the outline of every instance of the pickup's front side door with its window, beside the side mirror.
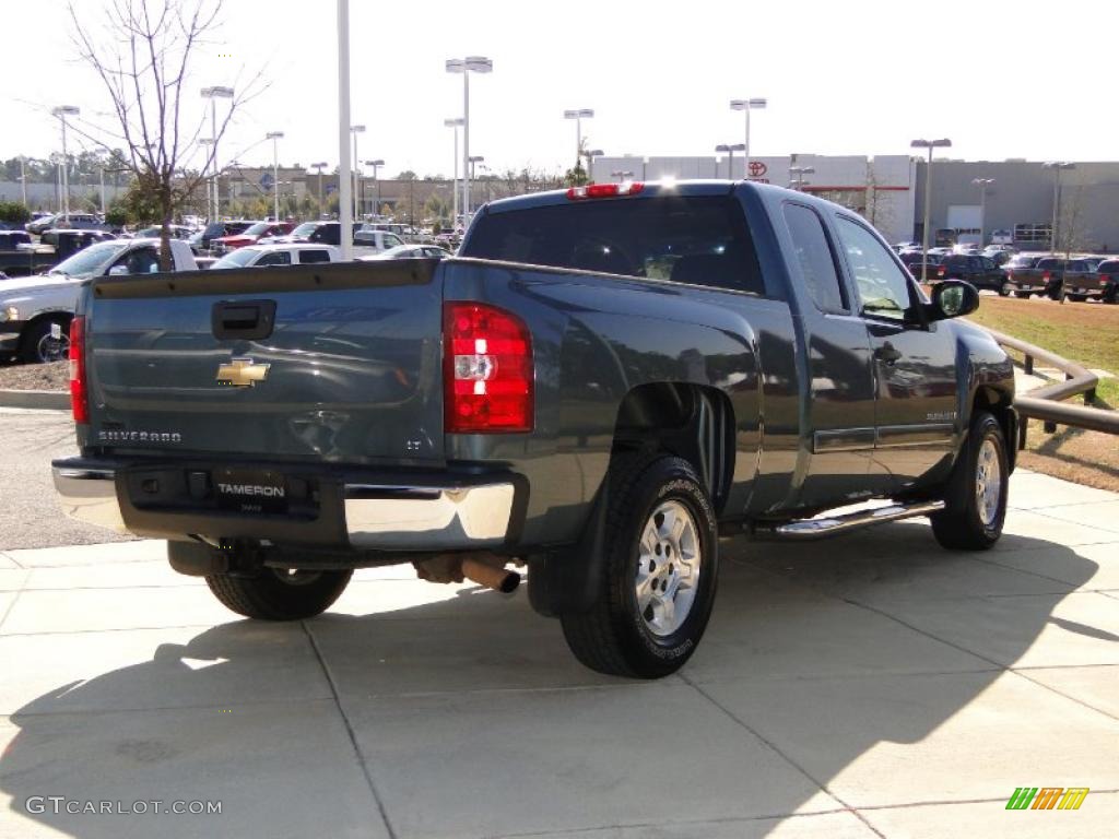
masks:
[[[836,229],[875,377],[874,460],[893,491],[947,468],[957,421],[956,340],[918,317],[916,285],[863,221],[836,215]]]

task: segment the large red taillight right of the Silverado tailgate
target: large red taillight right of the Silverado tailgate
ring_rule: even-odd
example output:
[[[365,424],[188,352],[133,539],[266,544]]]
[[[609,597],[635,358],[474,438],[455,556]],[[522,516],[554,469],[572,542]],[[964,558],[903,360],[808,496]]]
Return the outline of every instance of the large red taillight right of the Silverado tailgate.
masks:
[[[445,431],[532,431],[533,378],[533,341],[519,318],[485,303],[443,304]]]

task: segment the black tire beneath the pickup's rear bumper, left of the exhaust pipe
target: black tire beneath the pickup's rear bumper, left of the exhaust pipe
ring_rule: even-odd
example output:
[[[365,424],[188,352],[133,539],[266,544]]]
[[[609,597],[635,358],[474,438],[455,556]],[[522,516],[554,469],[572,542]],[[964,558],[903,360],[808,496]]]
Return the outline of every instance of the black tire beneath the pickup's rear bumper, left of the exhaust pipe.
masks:
[[[330,609],[352,575],[352,571],[261,568],[255,576],[209,574],[206,584],[224,606],[245,618],[300,621]]]

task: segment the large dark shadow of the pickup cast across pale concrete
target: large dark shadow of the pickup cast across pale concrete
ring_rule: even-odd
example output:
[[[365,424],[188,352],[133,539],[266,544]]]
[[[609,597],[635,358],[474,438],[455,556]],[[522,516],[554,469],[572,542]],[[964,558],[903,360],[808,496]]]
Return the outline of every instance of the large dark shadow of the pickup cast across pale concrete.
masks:
[[[762,837],[798,811],[1005,800],[1016,784],[1062,782],[1035,761],[1051,716],[1065,736],[1103,736],[1006,668],[1062,663],[1069,635],[1117,640],[1054,615],[1096,563],[1007,541],[951,554],[906,522],[825,546],[726,543],[707,635],[659,682],[583,669],[523,592],[356,579],[322,618],[187,630],[142,663],[23,705],[0,739],[0,833],[387,836],[384,814],[397,837],[707,836],[708,822]],[[1054,576],[1003,564],[1027,553]],[[974,704],[998,725],[972,719]],[[986,737],[986,763],[940,743],[943,728]],[[46,796],[223,803],[209,816],[56,813]]]

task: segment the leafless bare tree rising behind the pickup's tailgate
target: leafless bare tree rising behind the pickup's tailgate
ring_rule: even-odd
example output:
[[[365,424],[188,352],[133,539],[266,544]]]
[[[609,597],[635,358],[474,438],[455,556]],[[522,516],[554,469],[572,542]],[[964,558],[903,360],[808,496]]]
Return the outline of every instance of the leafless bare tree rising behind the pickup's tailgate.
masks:
[[[205,109],[189,106],[186,97],[197,102],[198,91],[188,87],[191,65],[218,28],[222,0],[112,0],[96,12],[86,3],[82,9],[87,19],[69,6],[74,45],[103,83],[115,119],[112,128],[83,121],[75,131],[107,151],[123,144],[125,166],[160,209],[160,266],[169,271],[168,226],[176,210],[195,198],[214,162],[216,145],[198,142]],[[237,85],[241,89],[215,126],[215,142],[233,114],[261,93],[261,78],[257,73]]]

